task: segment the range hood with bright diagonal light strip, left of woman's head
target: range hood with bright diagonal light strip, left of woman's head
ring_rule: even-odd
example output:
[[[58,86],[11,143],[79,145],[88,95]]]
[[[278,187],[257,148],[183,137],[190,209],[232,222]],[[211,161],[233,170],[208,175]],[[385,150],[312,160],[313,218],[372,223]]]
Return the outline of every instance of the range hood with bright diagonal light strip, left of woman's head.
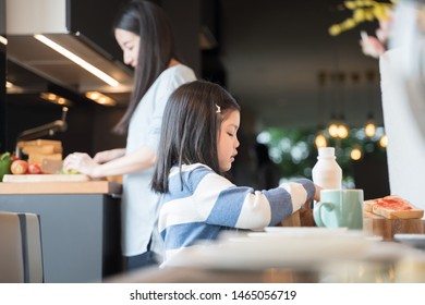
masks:
[[[7,0],[8,59],[77,93],[129,93],[131,69],[84,34],[71,32],[71,0]],[[105,29],[106,32],[108,29]],[[41,34],[118,82],[111,86],[35,38]]]

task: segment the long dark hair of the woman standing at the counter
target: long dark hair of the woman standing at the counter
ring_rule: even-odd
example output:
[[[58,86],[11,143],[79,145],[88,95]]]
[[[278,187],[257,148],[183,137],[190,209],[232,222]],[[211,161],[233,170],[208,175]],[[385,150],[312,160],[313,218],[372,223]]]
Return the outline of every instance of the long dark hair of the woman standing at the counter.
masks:
[[[129,107],[113,131],[124,134],[130,119],[142,97],[159,74],[165,71],[172,58],[177,59],[170,21],[156,3],[133,0],[119,12],[113,29],[121,28],[141,37],[137,66],[134,73],[134,87]]]

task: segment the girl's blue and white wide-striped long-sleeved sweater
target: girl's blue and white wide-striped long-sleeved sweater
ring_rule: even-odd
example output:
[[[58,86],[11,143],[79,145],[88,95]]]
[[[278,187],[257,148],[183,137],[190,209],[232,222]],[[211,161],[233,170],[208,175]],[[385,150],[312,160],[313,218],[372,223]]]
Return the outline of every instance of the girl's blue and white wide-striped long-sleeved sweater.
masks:
[[[182,178],[178,167],[171,169],[169,192],[159,213],[165,263],[202,240],[217,239],[228,228],[258,230],[276,225],[315,195],[315,186],[307,179],[254,191],[235,186],[201,163],[183,166]]]

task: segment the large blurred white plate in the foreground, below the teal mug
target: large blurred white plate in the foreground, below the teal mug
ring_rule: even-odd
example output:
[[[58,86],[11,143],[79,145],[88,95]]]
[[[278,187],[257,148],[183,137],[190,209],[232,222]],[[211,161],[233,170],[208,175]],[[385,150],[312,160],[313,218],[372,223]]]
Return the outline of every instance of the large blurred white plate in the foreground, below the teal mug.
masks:
[[[324,263],[363,257],[371,245],[363,236],[351,234],[326,237],[314,234],[302,237],[284,234],[252,235],[257,233],[233,237],[228,235],[209,245],[184,249],[167,265],[244,270],[282,267],[312,269]]]

